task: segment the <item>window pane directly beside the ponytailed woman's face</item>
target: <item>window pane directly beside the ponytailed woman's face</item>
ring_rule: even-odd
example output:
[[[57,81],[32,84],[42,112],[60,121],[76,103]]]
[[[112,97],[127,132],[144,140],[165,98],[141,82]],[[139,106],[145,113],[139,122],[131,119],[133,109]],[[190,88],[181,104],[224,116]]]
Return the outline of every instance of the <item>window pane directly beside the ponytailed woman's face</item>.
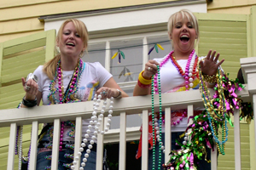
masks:
[[[106,52],[106,43],[97,43],[88,45],[88,53],[84,52],[82,59],[84,62],[100,62],[103,67],[105,67],[105,52]]]

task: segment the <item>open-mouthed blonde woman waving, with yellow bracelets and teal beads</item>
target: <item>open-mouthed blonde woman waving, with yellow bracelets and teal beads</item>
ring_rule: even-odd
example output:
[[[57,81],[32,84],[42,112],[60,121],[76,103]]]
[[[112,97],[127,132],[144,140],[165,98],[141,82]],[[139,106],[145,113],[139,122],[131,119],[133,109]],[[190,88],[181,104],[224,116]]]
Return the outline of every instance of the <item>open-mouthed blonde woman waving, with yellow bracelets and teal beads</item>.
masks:
[[[172,48],[170,54],[167,54],[163,58],[150,59],[145,65],[144,71],[142,71],[138,77],[137,85],[134,88],[133,95],[146,95],[152,94],[152,112],[148,116],[148,169],[163,169],[161,165],[165,164],[165,156],[162,156],[161,152],[165,150],[165,126],[164,118],[165,113],[163,111],[154,112],[154,94],[172,93],[179,91],[188,91],[199,88],[199,76],[198,76],[198,63],[201,67],[201,72],[205,77],[213,77],[214,79],[219,65],[224,62],[224,59],[218,61],[219,54],[210,50],[207,57],[202,60],[195,54],[195,40],[198,41],[199,29],[198,22],[195,15],[189,10],[183,9],[178,11],[168,20],[168,35],[172,40]],[[200,62],[198,62],[200,60]],[[208,88],[212,88],[215,82],[207,80]],[[211,81],[211,83],[210,83]],[[160,99],[161,102],[161,99]],[[199,111],[194,111],[197,115],[201,113],[203,108]],[[176,144],[176,139],[185,131],[188,122],[187,110],[172,111],[172,150],[181,149]],[[183,139],[183,143],[186,143],[187,137]],[[205,151],[210,154],[209,150]],[[137,151],[137,158],[142,156],[142,141],[140,141]],[[211,169],[211,164],[204,160],[196,160],[199,162],[197,169]],[[175,167],[175,169],[180,167]]]

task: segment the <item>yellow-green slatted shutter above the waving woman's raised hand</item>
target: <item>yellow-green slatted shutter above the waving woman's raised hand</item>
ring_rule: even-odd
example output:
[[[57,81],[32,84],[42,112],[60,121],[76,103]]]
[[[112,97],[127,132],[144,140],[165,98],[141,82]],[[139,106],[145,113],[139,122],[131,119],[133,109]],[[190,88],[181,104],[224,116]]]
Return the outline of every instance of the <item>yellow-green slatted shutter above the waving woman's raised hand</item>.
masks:
[[[240,59],[247,57],[247,21],[228,20],[225,16],[225,20],[206,20],[207,17],[201,20],[200,16],[199,56],[206,56],[209,49],[216,50],[219,60],[225,59],[224,72],[229,73],[231,79],[236,78]]]

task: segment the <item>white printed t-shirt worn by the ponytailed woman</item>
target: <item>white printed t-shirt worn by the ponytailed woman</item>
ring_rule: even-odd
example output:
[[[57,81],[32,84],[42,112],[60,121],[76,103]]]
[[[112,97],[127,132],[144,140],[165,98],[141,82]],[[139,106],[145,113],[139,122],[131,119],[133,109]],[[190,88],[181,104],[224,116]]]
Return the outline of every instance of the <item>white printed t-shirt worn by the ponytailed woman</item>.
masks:
[[[49,83],[51,80],[47,77],[43,72],[43,65],[38,66],[34,74],[38,77],[38,90],[42,92],[43,96],[43,105],[49,105],[49,99],[47,96],[49,95]],[[73,71],[62,71],[63,74],[63,86],[64,92],[67,89],[67,85],[70,82],[70,79],[73,77]],[[77,91],[78,99],[81,101],[91,100],[96,93],[98,88],[102,88],[102,86],[111,78],[112,75],[99,63],[88,63],[84,62],[84,71],[79,80],[79,89]],[[57,84],[55,85],[57,86]],[[59,93],[56,92],[55,98],[59,99]],[[82,127],[82,136],[86,133],[87,127],[89,125],[90,120],[83,120]],[[70,128],[65,128],[63,133],[63,140],[73,140],[73,138],[69,137],[67,133],[70,131]]]

